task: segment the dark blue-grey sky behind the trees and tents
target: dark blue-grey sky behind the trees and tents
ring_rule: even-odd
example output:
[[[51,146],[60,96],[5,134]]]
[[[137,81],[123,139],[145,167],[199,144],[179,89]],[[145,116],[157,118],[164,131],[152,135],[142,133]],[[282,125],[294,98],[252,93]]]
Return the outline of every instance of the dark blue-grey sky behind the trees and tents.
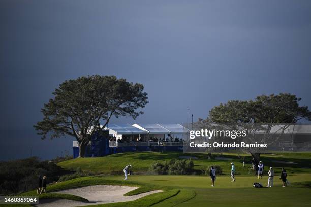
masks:
[[[32,126],[59,83],[145,86],[136,122],[186,122],[230,99],[293,93],[311,107],[310,1],[0,1],[0,160],[52,158],[72,139]],[[112,122],[134,123],[120,118]]]

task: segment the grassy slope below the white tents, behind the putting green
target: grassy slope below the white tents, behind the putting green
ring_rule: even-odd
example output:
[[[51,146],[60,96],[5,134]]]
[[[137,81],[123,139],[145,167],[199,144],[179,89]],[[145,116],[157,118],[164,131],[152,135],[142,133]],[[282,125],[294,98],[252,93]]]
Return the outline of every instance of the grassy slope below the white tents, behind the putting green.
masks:
[[[77,169],[92,171],[97,174],[122,174],[122,169],[128,164],[132,164],[134,174],[147,174],[148,168],[154,161],[164,161],[169,159],[181,159],[181,156],[193,156],[197,174],[201,169],[207,169],[211,165],[219,165],[224,174],[229,174],[230,163],[234,162],[238,174],[246,175],[251,167],[251,156],[237,154],[214,154],[213,159],[207,159],[207,154],[183,154],[178,152],[128,152],[108,155],[105,157],[77,158],[58,165],[66,169]],[[245,165],[243,167],[243,159]],[[262,155],[265,166],[275,167],[279,171],[281,167],[286,167],[289,172],[311,172],[311,153],[283,153]],[[265,168],[267,170],[268,168]]]

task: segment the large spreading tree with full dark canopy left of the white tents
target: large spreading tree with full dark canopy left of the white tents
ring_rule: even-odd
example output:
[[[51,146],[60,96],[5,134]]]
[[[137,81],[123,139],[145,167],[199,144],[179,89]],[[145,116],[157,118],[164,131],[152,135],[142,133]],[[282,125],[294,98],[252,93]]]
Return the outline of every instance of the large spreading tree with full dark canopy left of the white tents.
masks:
[[[103,131],[112,116],[135,119],[143,113],[136,111],[148,103],[143,89],[142,84],[115,76],[95,75],[65,81],[41,109],[43,120],[34,127],[42,139],[75,137],[79,143],[79,157],[83,157],[91,136]]]

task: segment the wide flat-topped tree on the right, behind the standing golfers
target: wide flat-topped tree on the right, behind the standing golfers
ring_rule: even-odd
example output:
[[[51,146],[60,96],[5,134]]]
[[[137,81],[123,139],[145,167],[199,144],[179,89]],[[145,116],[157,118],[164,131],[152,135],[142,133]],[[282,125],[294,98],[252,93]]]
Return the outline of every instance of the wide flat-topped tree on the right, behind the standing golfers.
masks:
[[[287,123],[280,127],[281,132],[278,134],[281,136],[289,126],[288,124],[296,123],[303,118],[311,120],[311,112],[307,106],[299,106],[300,100],[301,98],[288,93],[261,95],[257,96],[255,100],[249,101],[230,100],[213,107],[209,111],[208,120],[230,127],[242,126],[248,131],[255,131],[254,126],[258,127],[264,124],[265,127],[261,128],[265,131],[262,142],[267,142],[272,137],[275,139],[274,134],[271,134],[270,131],[276,124]],[[260,153],[251,150],[248,153],[259,161]]]

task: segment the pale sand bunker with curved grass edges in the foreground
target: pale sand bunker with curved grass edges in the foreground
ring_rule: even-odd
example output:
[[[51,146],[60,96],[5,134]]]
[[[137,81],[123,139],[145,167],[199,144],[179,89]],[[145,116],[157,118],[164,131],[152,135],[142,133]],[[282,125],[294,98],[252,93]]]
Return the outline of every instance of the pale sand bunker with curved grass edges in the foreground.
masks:
[[[138,187],[130,186],[110,186],[110,185],[95,185],[95,186],[86,186],[74,189],[67,189],[57,191],[55,193],[64,193],[77,195],[83,198],[86,198],[89,202],[80,202],[73,200],[65,199],[42,199],[39,200],[40,204],[36,206],[83,206],[83,205],[95,205],[95,204],[104,204],[104,203],[113,203],[113,202],[126,202],[131,200],[136,200],[144,196],[162,192],[162,190],[154,190],[146,193],[141,193],[133,196],[124,196],[124,194],[137,189]]]

